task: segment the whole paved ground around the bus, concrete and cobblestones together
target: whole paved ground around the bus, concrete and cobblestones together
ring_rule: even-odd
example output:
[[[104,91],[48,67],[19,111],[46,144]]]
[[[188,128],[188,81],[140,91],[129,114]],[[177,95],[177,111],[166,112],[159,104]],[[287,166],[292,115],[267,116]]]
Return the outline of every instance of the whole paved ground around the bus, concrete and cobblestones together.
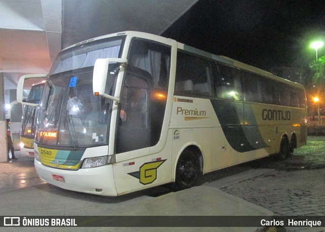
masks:
[[[0,214],[14,213],[15,210],[22,208],[24,202],[29,202],[34,207],[28,211],[30,206],[26,205],[23,208],[26,215],[35,215],[32,214],[35,211],[41,214],[53,213],[47,213],[48,215],[96,215],[96,213],[103,213],[108,210],[109,213],[115,213],[122,212],[121,207],[124,204],[138,210],[137,212],[141,212],[141,209],[146,212],[152,203],[158,204],[161,199],[172,196],[173,212],[180,213],[179,210],[184,206],[183,209],[185,209],[186,214],[191,215],[192,212],[187,208],[188,205],[185,201],[186,196],[193,194],[191,195],[194,196],[191,202],[194,202],[199,199],[196,196],[198,196],[198,189],[201,189],[204,192],[210,192],[210,195],[213,191],[215,196],[217,196],[216,192],[221,190],[220,192],[224,192],[225,196],[227,194],[234,196],[234,202],[235,199],[241,203],[247,202],[249,206],[255,205],[257,206],[256,209],[264,208],[272,211],[275,215],[325,216],[325,142],[323,140],[325,137],[319,141],[316,139],[309,144],[310,149],[307,146],[306,151],[298,151],[286,161],[277,161],[270,157],[209,173],[203,177],[202,184],[199,187],[190,190],[193,193],[174,193],[168,186],[159,186],[119,198],[86,195],[46,184],[38,178],[32,166],[32,159],[21,158],[18,153],[17,157],[20,158],[18,162],[0,164],[3,168],[0,169]],[[8,170],[4,171],[4,167]],[[19,200],[11,200],[15,198]],[[44,204],[40,204],[40,198],[46,198],[49,203],[47,205],[51,205],[51,207],[46,208]],[[139,207],[139,202],[142,203],[142,207]],[[212,200],[212,202],[219,203],[220,199]],[[19,205],[20,203],[22,205]],[[220,212],[218,209],[218,211],[210,211],[207,214],[207,211],[202,211],[204,207],[199,207],[197,204],[194,204],[193,207],[197,211],[201,210],[198,212],[203,213],[202,215],[214,215],[216,212]],[[213,208],[215,207],[210,207],[209,210]],[[234,209],[239,208],[242,207],[237,205]],[[163,209],[167,212],[168,208],[163,207]],[[77,213],[72,214],[73,212]],[[188,229],[184,230],[190,231]],[[181,228],[177,230],[182,231]],[[325,231],[325,228],[287,227],[278,228],[279,230]]]

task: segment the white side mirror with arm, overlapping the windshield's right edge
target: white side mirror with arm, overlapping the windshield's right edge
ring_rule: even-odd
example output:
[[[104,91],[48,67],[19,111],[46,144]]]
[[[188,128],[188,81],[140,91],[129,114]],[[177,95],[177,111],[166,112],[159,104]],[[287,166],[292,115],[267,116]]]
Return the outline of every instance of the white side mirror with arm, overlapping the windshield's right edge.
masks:
[[[120,99],[118,97],[114,97],[105,93],[109,62],[122,63],[121,65],[123,65],[123,63],[127,63],[127,59],[121,59],[121,58],[97,59],[93,67],[92,90],[95,96],[103,96],[105,98],[112,99],[116,102],[119,102]]]

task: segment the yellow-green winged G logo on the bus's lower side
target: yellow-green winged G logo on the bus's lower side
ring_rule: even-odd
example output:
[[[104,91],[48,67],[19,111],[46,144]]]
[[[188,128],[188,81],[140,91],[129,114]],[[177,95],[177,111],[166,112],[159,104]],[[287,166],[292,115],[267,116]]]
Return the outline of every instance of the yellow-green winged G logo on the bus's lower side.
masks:
[[[140,167],[139,172],[127,173],[133,177],[140,180],[142,184],[151,184],[157,179],[157,168],[160,167],[166,160],[154,161],[149,163],[144,163]]]

